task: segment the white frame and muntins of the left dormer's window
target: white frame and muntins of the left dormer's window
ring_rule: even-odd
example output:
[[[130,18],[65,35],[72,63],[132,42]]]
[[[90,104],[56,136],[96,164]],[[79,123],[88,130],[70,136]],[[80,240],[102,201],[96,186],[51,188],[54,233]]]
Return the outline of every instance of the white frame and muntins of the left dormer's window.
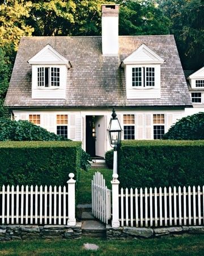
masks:
[[[44,85],[39,85],[39,77],[38,77],[38,74],[39,74],[39,69],[40,68],[43,68],[43,73],[44,73],[44,79],[43,79],[43,83]],[[48,79],[48,86],[45,86],[45,68],[49,68],[49,79]],[[51,85],[51,69],[52,68],[58,68],[59,69],[59,86],[57,85]],[[59,66],[56,66],[56,65],[37,65],[36,67],[36,73],[37,73],[37,84],[36,84],[36,87],[37,89],[59,89],[61,87],[61,68]]]

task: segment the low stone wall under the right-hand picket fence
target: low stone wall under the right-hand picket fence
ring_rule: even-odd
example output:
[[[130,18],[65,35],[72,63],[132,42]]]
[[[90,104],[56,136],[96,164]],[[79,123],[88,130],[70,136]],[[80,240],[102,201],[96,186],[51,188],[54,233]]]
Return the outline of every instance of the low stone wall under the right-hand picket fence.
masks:
[[[154,238],[182,234],[204,234],[204,226],[175,226],[169,228],[112,228],[107,225],[107,239]]]

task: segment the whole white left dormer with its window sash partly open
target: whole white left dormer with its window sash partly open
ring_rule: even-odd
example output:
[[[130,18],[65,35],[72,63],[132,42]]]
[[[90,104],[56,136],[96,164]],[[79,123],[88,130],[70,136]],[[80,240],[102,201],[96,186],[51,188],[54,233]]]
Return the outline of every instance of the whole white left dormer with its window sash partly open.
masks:
[[[70,62],[47,44],[33,56],[32,98],[65,98],[67,68]]]

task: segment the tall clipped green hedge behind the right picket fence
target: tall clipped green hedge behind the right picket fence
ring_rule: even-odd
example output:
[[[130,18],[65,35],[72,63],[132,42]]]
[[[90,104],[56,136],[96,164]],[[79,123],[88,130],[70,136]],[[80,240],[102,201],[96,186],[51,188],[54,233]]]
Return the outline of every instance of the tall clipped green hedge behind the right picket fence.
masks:
[[[124,141],[121,187],[204,185],[204,141]]]

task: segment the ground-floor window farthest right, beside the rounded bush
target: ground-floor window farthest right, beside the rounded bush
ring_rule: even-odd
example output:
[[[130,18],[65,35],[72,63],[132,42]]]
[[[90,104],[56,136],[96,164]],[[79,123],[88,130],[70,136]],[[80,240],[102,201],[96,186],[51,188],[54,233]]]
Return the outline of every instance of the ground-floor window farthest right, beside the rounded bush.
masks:
[[[164,135],[164,114],[153,115],[154,139],[162,139]]]

